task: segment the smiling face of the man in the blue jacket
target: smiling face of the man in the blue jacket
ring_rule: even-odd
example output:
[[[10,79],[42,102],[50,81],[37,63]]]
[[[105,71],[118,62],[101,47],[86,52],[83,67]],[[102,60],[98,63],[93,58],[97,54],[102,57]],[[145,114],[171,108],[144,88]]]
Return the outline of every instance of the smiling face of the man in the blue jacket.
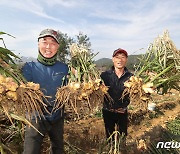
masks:
[[[39,39],[38,47],[40,53],[45,58],[51,58],[57,53],[59,44],[56,42],[54,38],[46,36]]]

